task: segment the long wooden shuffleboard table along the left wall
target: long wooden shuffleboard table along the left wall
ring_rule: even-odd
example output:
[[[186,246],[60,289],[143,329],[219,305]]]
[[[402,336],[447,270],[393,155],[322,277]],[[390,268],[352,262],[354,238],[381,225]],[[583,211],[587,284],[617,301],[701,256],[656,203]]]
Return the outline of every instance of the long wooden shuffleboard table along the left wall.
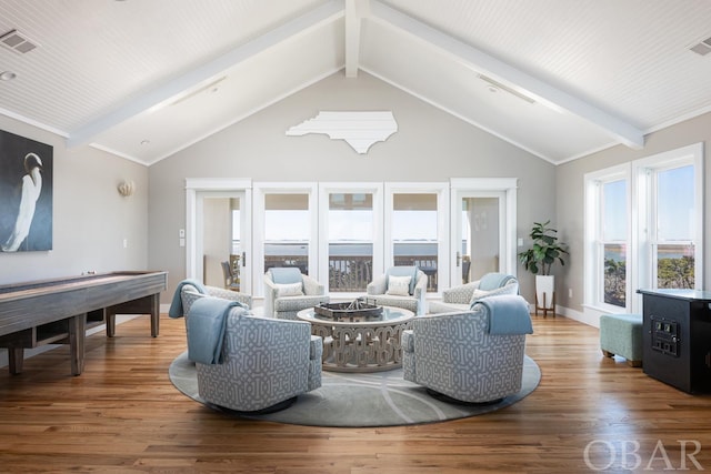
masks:
[[[0,347],[8,349],[10,373],[22,372],[24,349],[69,344],[71,373],[81,374],[87,329],[106,323],[112,337],[117,314],[150,314],[151,336],[158,336],[167,274],[110,272],[0,286]]]

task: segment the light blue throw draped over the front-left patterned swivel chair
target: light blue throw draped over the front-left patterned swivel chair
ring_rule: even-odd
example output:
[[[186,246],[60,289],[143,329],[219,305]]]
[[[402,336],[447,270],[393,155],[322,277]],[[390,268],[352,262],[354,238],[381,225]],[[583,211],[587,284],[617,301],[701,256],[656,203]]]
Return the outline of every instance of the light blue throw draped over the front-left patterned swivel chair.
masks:
[[[237,301],[220,297],[199,297],[188,312],[188,359],[201,364],[222,362],[222,341],[227,316]]]

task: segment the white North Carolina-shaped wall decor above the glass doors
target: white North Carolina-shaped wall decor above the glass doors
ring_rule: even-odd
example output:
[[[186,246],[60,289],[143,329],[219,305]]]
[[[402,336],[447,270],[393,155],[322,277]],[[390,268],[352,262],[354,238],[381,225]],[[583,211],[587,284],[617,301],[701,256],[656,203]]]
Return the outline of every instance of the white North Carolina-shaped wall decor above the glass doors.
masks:
[[[331,140],[346,140],[360,154],[398,131],[392,112],[319,112],[287,130],[288,137],[326,133]]]

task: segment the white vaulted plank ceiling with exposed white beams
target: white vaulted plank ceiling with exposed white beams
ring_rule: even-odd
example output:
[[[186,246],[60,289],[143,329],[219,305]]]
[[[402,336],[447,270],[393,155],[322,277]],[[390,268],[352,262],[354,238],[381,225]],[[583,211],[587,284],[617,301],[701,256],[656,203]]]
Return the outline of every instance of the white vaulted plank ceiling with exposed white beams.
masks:
[[[146,164],[339,71],[552,163],[711,111],[708,0],[0,0],[10,30],[0,113]]]

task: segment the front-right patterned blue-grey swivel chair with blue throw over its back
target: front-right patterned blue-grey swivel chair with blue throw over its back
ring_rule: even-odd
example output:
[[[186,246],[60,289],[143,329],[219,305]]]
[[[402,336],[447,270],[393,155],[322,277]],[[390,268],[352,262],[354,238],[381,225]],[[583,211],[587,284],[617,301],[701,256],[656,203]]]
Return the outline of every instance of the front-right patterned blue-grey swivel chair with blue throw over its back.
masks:
[[[403,377],[465,403],[503,399],[521,390],[529,305],[518,295],[491,296],[464,312],[412,320],[402,334]]]

